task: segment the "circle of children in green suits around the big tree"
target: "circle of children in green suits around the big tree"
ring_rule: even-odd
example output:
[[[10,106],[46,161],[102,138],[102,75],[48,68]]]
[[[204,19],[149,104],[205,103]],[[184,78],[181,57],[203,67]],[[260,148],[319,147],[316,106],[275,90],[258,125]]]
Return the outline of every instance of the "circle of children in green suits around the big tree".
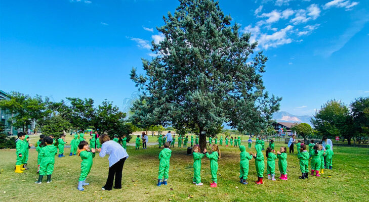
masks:
[[[166,137],[159,135],[158,143],[159,148],[161,145],[164,146],[159,153],[159,172],[158,172],[158,182],[157,186],[160,185],[167,185],[168,184],[168,177],[169,177],[169,168],[170,168],[170,157],[172,155],[172,150],[170,147],[174,147],[176,137],[175,135],[172,138],[172,141],[166,141]],[[182,141],[183,140],[183,141]],[[16,173],[23,173],[23,170],[27,168],[27,161],[28,161],[28,149],[31,144],[29,144],[29,136],[25,135],[25,133],[18,133],[18,139],[16,142]],[[113,141],[118,142],[118,138],[115,136]],[[258,180],[255,181],[256,184],[263,184],[263,176],[265,170],[264,164],[264,155],[262,150],[264,150],[264,140],[259,137],[256,140],[255,149],[256,154],[247,153],[245,151],[245,146],[241,145],[241,139],[238,138],[225,137],[225,146],[228,147],[228,141],[230,142],[231,147],[239,147],[240,150],[240,183],[248,184],[247,179],[249,175],[249,161],[253,158],[255,159],[255,167],[258,175]],[[38,164],[38,171],[39,174],[38,180],[35,182],[37,184],[42,183],[42,179],[45,175],[47,175],[47,183],[51,182],[51,175],[54,170],[54,157],[58,154],[58,157],[65,157],[64,156],[64,145],[67,143],[65,142],[65,135],[61,134],[60,138],[57,141],[57,145],[55,146],[55,139],[53,135],[45,136],[40,135],[40,139],[37,141],[35,147],[36,151],[38,152],[37,156],[37,164]],[[127,137],[124,136],[121,139],[122,147],[127,149]],[[183,145],[182,145],[183,142]],[[188,142],[188,135],[186,137],[179,136],[178,137],[178,147],[187,147]],[[234,142],[234,143],[233,143]],[[209,145],[211,146],[212,153],[209,154],[207,149],[204,148],[202,153],[200,151],[200,147],[198,145],[199,139],[198,136],[195,135],[195,138],[191,135],[191,147],[192,147],[192,156],[193,156],[193,184],[197,186],[203,185],[201,183],[200,171],[201,171],[201,159],[206,156],[210,160],[210,169],[211,169],[211,176],[213,183],[210,184],[211,187],[217,187],[217,172],[218,172],[218,160],[221,158],[221,153],[219,146],[223,146],[223,137],[221,136],[219,139],[219,146],[218,146],[218,137],[209,138]],[[92,134],[92,138],[90,139],[90,145],[87,141],[85,141],[84,133],[75,133],[74,139],[72,139],[70,145],[70,154],[69,156],[78,155],[80,156],[81,162],[81,172],[78,179],[78,190],[84,190],[83,186],[89,185],[86,183],[86,177],[90,173],[92,167],[92,159],[95,157],[95,148],[98,150],[101,148],[101,144],[97,135],[97,132]],[[140,146],[140,137],[137,136],[136,138],[136,149]],[[248,147],[251,148],[252,146],[252,139],[251,137],[248,140]],[[300,170],[302,175],[299,177],[300,179],[307,179],[309,176],[309,160],[311,160],[311,175],[315,175],[319,177],[320,173],[323,174],[324,169],[324,159],[325,159],[325,168],[332,169],[332,156],[333,150],[331,149],[330,145],[326,145],[325,149],[322,149],[322,145],[319,143],[314,143],[314,140],[311,140],[311,143],[308,147],[301,143],[300,141],[297,143],[298,148],[298,159],[300,160]],[[307,148],[309,148],[307,150]],[[269,146],[266,149],[266,157],[267,157],[267,174],[268,179],[275,181],[275,160],[278,159],[278,168],[280,171],[280,180],[288,180],[287,178],[287,154],[286,154],[286,147],[280,147],[280,150],[277,151],[275,154],[274,150],[274,141],[273,139],[269,140]],[[321,172],[320,172],[321,171]]]

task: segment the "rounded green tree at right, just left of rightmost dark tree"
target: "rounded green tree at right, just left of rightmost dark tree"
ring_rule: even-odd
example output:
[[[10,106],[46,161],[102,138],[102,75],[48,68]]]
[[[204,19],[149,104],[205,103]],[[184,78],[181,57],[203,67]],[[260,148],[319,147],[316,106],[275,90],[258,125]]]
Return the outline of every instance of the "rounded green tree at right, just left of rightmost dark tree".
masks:
[[[343,136],[351,145],[354,135],[352,117],[348,107],[340,101],[330,100],[324,104],[311,119],[316,132],[320,136]]]

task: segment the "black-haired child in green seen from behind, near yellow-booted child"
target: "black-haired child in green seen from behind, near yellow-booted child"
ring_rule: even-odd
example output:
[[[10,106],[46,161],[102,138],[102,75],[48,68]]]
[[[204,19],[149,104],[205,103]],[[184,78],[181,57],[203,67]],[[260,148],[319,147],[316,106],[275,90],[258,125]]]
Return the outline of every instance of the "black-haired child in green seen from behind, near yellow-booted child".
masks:
[[[47,182],[51,182],[51,175],[54,171],[55,155],[58,153],[58,149],[53,144],[53,138],[46,137],[45,143],[46,146],[40,150],[40,156],[42,156],[42,160],[39,167],[38,180],[35,182],[36,184],[41,184],[45,175],[48,176]]]

